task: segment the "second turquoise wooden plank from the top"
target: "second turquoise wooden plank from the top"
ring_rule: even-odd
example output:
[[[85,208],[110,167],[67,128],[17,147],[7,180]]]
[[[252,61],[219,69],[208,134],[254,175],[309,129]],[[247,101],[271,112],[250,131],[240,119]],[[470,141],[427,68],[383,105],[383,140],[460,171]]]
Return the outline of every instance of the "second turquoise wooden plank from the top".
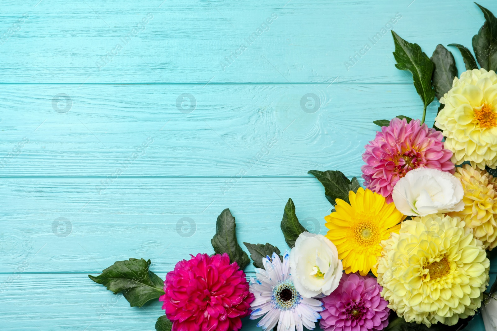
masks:
[[[184,93],[195,99],[191,113]],[[0,107],[0,176],[104,181],[360,176],[374,120],[422,115],[412,84],[1,85]],[[430,126],[437,108],[428,108]]]

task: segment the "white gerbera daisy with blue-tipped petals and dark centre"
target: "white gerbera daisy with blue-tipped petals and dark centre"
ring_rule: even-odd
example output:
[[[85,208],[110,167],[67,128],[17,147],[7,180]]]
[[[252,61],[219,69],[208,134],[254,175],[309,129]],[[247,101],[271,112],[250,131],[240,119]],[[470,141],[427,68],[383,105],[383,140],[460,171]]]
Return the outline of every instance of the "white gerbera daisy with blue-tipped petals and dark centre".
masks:
[[[250,292],[255,300],[250,304],[250,319],[262,319],[257,327],[277,331],[302,331],[302,326],[314,330],[321,319],[322,302],[302,297],[293,284],[290,274],[290,256],[286,251],[283,263],[276,253],[262,259],[264,269],[255,268],[256,278],[250,277]]]

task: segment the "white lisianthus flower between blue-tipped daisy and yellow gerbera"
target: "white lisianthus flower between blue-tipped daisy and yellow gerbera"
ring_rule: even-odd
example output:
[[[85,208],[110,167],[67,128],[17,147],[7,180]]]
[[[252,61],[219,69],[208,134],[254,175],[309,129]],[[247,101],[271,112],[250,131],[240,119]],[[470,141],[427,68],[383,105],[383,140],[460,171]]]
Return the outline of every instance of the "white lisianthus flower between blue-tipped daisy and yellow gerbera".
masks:
[[[335,245],[323,235],[302,232],[290,252],[293,283],[305,298],[330,295],[340,282],[342,263]]]

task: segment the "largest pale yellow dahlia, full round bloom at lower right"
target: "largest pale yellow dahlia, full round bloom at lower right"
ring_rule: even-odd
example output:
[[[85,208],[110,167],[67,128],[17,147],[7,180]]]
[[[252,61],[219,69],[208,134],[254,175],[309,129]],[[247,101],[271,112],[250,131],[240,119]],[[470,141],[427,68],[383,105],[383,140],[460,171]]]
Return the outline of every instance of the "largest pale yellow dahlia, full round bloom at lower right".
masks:
[[[432,214],[405,220],[399,234],[392,233],[382,245],[381,295],[407,322],[450,326],[481,306],[490,261],[459,217]]]

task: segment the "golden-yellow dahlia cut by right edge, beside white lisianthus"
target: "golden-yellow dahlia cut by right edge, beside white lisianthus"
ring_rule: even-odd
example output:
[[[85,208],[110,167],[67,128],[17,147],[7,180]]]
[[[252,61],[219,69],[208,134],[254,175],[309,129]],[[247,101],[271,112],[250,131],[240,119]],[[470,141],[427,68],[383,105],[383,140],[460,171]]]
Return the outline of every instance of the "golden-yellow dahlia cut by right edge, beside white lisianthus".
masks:
[[[497,178],[469,164],[457,167],[454,176],[463,185],[464,210],[453,211],[448,215],[461,217],[485,248],[492,250],[497,246]]]

